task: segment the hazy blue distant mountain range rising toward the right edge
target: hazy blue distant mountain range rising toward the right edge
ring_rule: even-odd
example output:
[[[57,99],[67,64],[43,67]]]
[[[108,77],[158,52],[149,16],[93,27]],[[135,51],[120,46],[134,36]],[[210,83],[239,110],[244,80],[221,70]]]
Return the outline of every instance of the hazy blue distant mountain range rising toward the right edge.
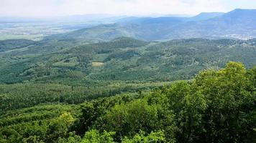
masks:
[[[116,24],[102,24],[67,34],[50,36],[52,39],[80,39],[106,41],[119,36],[130,36],[146,41],[170,39],[253,39],[256,38],[256,9],[235,9],[228,13],[202,13],[186,17],[129,17]]]

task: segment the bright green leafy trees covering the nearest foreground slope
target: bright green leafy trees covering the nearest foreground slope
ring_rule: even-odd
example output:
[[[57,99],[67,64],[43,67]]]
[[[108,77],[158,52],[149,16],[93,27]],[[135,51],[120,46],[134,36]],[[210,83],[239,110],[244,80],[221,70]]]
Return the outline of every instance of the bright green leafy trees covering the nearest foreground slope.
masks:
[[[22,94],[19,84],[5,86],[1,90]],[[77,90],[55,86],[36,86],[35,96]],[[191,80],[115,95],[81,104],[27,101],[33,107],[0,115],[0,142],[256,142],[255,68],[231,61]]]

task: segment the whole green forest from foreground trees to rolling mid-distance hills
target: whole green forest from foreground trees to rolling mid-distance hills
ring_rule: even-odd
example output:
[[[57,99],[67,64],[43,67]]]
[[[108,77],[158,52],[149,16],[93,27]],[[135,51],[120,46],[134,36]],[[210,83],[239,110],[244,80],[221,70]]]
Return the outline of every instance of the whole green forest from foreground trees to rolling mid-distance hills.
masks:
[[[255,142],[255,54],[255,39],[2,40],[0,142]]]

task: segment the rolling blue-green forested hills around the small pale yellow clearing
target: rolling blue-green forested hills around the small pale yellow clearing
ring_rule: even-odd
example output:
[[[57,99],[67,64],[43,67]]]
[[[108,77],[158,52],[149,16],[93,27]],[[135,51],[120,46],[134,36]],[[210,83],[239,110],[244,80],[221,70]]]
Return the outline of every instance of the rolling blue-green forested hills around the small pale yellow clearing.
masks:
[[[91,44],[38,41],[0,52],[0,82],[165,82],[191,79],[202,69],[219,69],[228,61],[252,68],[256,65],[255,54],[254,39],[147,42],[122,37]]]

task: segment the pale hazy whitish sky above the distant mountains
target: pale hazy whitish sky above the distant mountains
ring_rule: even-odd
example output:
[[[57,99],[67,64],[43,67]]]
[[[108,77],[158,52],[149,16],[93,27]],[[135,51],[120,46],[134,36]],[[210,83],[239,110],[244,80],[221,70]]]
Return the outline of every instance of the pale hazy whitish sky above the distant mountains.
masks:
[[[198,14],[256,9],[256,0],[0,0],[0,16]]]

